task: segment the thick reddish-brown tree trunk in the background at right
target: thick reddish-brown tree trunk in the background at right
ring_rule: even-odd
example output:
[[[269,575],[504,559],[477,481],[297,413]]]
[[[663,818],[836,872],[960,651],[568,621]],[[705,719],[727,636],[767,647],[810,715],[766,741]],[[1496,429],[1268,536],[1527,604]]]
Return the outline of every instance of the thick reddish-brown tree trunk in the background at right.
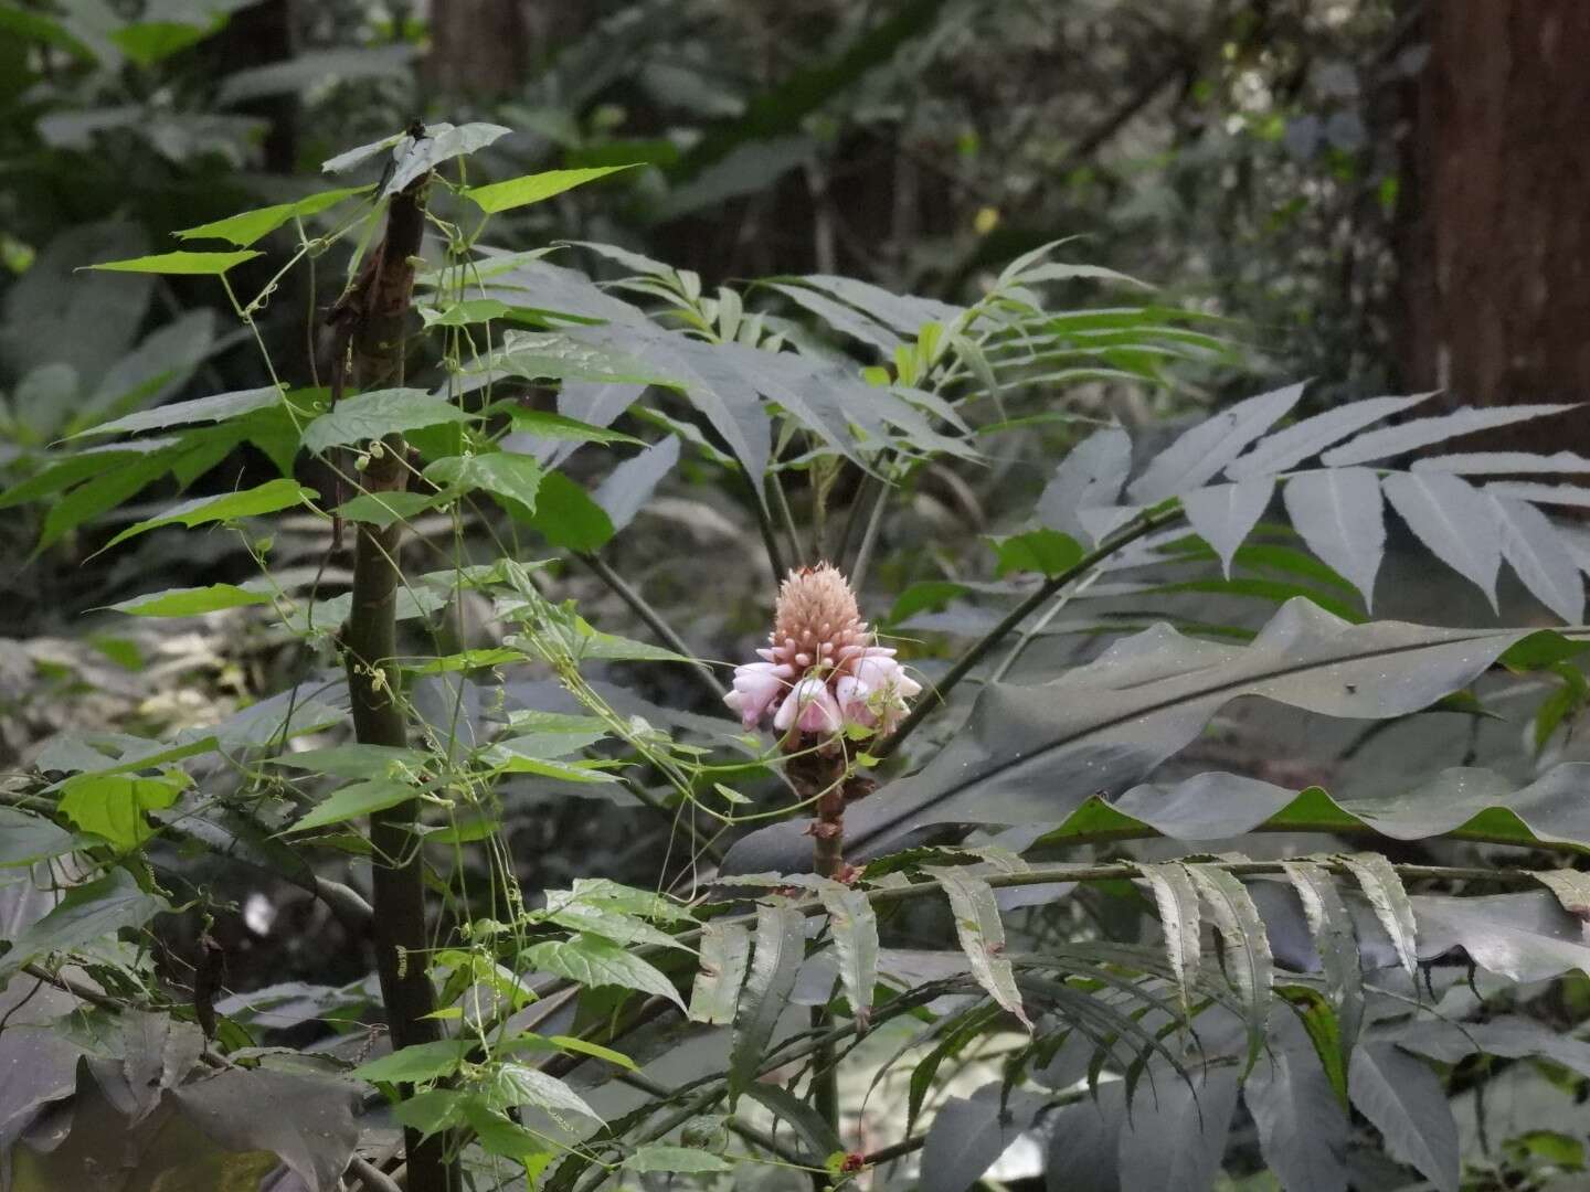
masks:
[[[1426,0],[1402,370],[1453,405],[1590,401],[1590,3]],[[1590,451],[1590,408],[1485,435]]]

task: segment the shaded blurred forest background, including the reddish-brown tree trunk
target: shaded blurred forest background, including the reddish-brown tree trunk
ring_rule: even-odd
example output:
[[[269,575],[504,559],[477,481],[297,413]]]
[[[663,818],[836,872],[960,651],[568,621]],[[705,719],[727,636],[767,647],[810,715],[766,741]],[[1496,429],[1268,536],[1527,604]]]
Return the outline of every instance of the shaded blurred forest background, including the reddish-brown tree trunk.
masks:
[[[25,265],[68,229],[159,245],[429,114],[514,127],[493,153],[518,170],[649,162],[622,203],[536,219],[708,283],[959,297],[1075,235],[1239,319],[1255,369],[1317,375],[1317,399],[1590,385],[1574,0],[172,0],[142,16],[164,38],[118,37],[130,8],[0,10],[0,383],[52,348]],[[64,17],[41,72],[32,13]],[[197,37],[207,14],[226,27]]]

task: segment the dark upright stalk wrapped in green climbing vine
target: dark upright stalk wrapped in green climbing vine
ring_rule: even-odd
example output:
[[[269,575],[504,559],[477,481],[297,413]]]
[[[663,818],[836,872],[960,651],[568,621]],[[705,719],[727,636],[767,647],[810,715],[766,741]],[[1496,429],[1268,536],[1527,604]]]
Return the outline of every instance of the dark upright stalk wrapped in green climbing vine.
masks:
[[[359,280],[332,310],[347,343],[353,378],[363,389],[402,378],[404,335],[413,294],[412,257],[425,235],[423,175],[393,195],[386,235],[372,253]],[[343,361],[337,361],[339,377]],[[402,435],[372,443],[364,485],[372,493],[396,493],[407,486],[409,470]],[[402,523],[377,528],[359,523],[353,553],[353,604],[342,628],[343,663],[353,704],[353,731],[366,745],[409,744],[409,725],[399,698],[398,655],[398,548]],[[418,799],[370,815],[375,850],[374,936],[375,969],[393,1047],[432,1043],[440,1036],[436,995],[426,974],[425,857],[413,833]],[[420,1138],[404,1132],[410,1192],[452,1192],[458,1186],[445,1157],[445,1135]]]

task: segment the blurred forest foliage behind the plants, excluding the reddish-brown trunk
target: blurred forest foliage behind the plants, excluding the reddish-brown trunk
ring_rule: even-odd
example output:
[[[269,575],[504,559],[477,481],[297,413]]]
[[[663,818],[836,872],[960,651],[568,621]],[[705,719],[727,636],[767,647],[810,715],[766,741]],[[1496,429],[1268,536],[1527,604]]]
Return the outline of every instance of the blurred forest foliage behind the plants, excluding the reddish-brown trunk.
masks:
[[[208,280],[75,267],[321,189],[324,159],[415,116],[514,129],[479,159],[494,176],[644,162],[493,235],[620,243],[708,291],[840,273],[965,302],[1075,237],[1068,259],[1227,316],[1247,345],[1243,367],[1183,373],[1173,399],[1097,383],[1129,421],[1270,377],[1318,377],[1312,401],[1331,402],[1406,372],[1418,5],[6,0],[0,32],[0,462],[21,474],[72,429],[264,380]],[[313,380],[310,312],[339,264],[258,315],[289,383]],[[246,264],[237,292],[273,269]],[[984,480],[1010,488],[999,467]],[[22,523],[3,531],[19,555]],[[41,625],[111,594],[48,561],[0,586]]]

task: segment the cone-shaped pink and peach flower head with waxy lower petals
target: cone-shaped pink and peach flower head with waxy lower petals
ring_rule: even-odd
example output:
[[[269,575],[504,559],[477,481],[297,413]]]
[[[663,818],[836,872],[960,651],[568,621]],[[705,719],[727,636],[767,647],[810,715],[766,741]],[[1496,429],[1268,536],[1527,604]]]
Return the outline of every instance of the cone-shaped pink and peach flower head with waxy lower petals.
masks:
[[[746,728],[773,710],[773,728],[792,745],[801,736],[862,728],[889,734],[922,688],[874,645],[855,593],[832,564],[792,571],[779,590],[768,648],[760,663],[735,668],[723,702]]]

